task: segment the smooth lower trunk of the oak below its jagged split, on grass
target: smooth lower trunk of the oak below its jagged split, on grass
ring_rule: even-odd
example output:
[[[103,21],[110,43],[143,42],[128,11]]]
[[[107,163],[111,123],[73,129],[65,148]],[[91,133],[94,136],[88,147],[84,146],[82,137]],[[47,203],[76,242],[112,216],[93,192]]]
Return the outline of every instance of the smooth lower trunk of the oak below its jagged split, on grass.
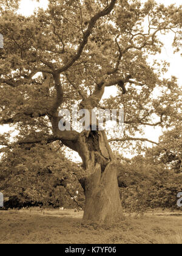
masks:
[[[123,218],[116,169],[109,163],[104,172],[97,163],[84,180],[86,205],[83,220],[111,223]]]

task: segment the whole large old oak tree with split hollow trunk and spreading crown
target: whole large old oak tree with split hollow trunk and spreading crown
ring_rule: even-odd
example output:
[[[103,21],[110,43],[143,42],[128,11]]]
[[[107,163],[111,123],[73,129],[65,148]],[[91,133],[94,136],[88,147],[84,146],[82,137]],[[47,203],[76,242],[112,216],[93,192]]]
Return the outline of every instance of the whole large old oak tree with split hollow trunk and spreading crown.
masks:
[[[160,34],[172,33],[174,49],[180,51],[181,7],[152,0],[49,0],[47,10],[25,17],[12,1],[0,4],[0,124],[18,131],[13,142],[9,133],[1,137],[3,150],[15,144],[61,141],[83,160],[83,218],[119,218],[121,201],[110,145],[144,141],[135,138],[144,126],[169,127],[181,120],[177,79],[163,78],[165,61],[149,62],[149,56],[163,47]],[[102,101],[105,89],[112,86],[118,95]],[[156,89],[160,93],[153,97]],[[104,130],[91,127],[61,131],[59,110],[73,104],[90,114],[93,108],[123,106],[123,137],[114,134],[107,140]]]

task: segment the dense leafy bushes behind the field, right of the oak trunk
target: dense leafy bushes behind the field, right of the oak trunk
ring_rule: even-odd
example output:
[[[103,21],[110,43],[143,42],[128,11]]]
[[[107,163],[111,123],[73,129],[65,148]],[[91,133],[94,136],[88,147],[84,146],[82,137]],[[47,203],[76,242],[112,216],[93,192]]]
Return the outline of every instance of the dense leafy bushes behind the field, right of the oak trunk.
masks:
[[[121,201],[126,210],[178,209],[177,194],[182,191],[182,174],[175,174],[162,163],[154,165],[151,158],[142,156],[124,160],[117,167]]]

